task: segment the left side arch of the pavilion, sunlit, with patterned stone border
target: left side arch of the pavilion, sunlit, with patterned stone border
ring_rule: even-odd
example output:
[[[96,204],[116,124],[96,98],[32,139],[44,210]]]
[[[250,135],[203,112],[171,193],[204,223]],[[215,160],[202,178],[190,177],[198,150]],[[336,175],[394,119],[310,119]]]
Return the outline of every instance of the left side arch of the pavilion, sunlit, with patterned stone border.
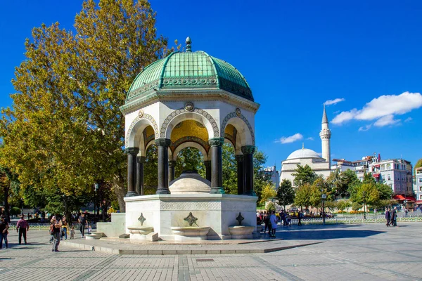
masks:
[[[138,115],[130,124],[129,129],[127,129],[124,146],[126,148],[139,147],[142,132],[147,126],[153,127],[155,138],[158,138],[158,124],[155,119],[148,114]]]

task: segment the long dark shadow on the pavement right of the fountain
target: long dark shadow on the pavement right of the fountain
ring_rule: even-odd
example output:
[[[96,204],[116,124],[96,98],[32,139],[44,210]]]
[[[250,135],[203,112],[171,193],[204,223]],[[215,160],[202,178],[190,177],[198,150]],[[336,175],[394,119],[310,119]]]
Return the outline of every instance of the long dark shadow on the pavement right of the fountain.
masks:
[[[277,238],[284,240],[327,240],[339,238],[362,238],[385,233],[385,231],[375,230],[342,230],[342,229],[326,229],[326,230],[301,230],[292,232],[276,233]]]

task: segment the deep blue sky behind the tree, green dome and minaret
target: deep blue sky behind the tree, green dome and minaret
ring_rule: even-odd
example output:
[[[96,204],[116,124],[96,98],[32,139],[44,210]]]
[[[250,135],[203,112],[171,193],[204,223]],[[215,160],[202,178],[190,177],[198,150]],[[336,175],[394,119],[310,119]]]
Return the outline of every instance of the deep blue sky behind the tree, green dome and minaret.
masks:
[[[82,1],[0,5],[0,106],[11,105],[14,67],[32,27],[72,28]],[[302,147],[321,152],[323,104],[333,158],[416,163],[422,157],[422,1],[152,0],[158,34],[226,60],[255,101],[257,146],[267,164]],[[408,92],[408,93],[407,93]],[[335,124],[334,124],[335,123]],[[419,126],[418,126],[419,124]],[[293,138],[289,138],[295,136]],[[293,141],[296,139],[296,141]],[[293,141],[293,142],[289,142]]]

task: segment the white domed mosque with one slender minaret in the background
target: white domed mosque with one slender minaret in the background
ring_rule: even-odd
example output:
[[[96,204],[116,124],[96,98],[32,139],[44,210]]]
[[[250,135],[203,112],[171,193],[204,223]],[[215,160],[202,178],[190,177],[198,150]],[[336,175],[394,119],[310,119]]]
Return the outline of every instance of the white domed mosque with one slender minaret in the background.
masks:
[[[328,118],[325,106],[324,112],[322,114],[321,132],[319,133],[319,137],[321,138],[322,157],[319,156],[318,153],[314,152],[314,150],[307,149],[304,145],[302,145],[302,149],[295,150],[290,155],[288,155],[286,160],[281,162],[280,182],[286,178],[293,183],[293,180],[295,179],[293,174],[295,173],[295,169],[298,168],[298,164],[300,164],[301,166],[310,166],[312,171],[314,171],[318,175],[323,175],[324,178],[327,178],[330,175],[331,131],[328,127]]]

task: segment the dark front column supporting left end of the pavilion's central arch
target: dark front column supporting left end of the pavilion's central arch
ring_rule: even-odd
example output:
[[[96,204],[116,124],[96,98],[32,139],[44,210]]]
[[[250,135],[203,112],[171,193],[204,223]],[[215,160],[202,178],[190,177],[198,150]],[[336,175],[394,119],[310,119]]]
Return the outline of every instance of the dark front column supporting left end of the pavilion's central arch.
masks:
[[[156,194],[170,194],[169,190],[169,146],[168,138],[155,140],[158,150],[158,188]]]

